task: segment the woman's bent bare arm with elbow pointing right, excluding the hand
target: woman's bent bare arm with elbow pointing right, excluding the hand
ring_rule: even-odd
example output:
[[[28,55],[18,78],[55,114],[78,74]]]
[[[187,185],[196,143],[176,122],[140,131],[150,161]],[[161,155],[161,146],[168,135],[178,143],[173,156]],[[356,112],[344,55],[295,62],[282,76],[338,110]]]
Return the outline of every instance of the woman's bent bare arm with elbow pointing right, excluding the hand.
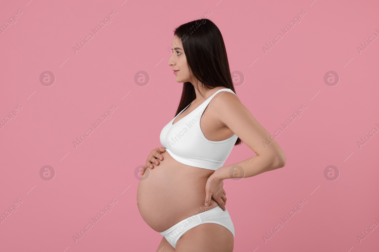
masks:
[[[286,158],[282,148],[237,96],[230,92],[223,92],[219,99],[215,100],[212,110],[218,115],[222,124],[257,153],[244,161],[220,167],[212,176],[218,179],[247,178],[285,165]]]

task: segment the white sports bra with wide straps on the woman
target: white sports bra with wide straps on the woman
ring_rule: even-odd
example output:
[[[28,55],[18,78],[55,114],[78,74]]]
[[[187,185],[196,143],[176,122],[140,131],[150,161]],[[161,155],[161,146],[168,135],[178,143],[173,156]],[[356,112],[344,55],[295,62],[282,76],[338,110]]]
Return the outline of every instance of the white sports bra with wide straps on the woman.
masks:
[[[176,161],[209,170],[217,170],[224,165],[230,152],[232,152],[238,136],[234,134],[222,141],[210,141],[205,138],[200,128],[200,118],[204,110],[208,107],[211,99],[221,91],[235,94],[229,88],[220,89],[199,107],[191,111],[191,113],[175,122],[175,124],[172,124],[175,118],[188,108],[191,102],[163,127],[160,134],[160,142]]]

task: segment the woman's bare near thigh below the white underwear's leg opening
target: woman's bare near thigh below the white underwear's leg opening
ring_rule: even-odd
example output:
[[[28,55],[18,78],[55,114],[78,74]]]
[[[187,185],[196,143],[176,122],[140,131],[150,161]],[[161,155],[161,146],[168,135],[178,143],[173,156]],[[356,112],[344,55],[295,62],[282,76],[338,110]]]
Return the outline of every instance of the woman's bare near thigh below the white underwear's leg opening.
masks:
[[[204,223],[184,233],[176,243],[176,252],[232,252],[233,234],[224,226]]]

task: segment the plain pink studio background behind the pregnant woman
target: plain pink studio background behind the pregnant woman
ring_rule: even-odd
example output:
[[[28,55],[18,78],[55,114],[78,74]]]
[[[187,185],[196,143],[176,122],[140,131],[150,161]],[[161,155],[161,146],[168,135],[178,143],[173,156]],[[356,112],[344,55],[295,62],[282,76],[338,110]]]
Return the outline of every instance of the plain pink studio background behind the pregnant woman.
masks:
[[[235,227],[234,251],[377,251],[379,224],[379,32],[377,1],[6,1],[0,24],[21,10],[0,35],[0,119],[22,105],[0,129],[0,213],[22,203],[0,224],[0,251],[155,251],[162,236],[139,215],[135,169],[160,146],[161,129],[173,117],[182,83],[175,82],[172,30],[209,9],[220,29],[230,71],[240,71],[236,94],[276,141],[287,164],[241,181],[224,181]],[[75,54],[112,10],[111,23]],[[302,10],[288,34],[280,30]],[[281,32],[266,54],[262,47]],[[254,62],[254,63],[253,63]],[[53,85],[39,77],[51,71]],[[149,83],[134,78],[146,71]],[[335,71],[337,85],[324,75]],[[233,76],[238,77],[238,76]],[[242,77],[242,76],[239,76]],[[73,141],[116,104],[82,144]],[[288,128],[281,123],[305,104]],[[93,128],[93,127],[92,127]],[[225,165],[254,153],[234,147]],[[45,181],[41,167],[55,177]],[[338,179],[324,176],[327,166]],[[99,223],[72,238],[106,204]],[[288,223],[281,217],[305,199]],[[266,243],[263,235],[282,222]]]

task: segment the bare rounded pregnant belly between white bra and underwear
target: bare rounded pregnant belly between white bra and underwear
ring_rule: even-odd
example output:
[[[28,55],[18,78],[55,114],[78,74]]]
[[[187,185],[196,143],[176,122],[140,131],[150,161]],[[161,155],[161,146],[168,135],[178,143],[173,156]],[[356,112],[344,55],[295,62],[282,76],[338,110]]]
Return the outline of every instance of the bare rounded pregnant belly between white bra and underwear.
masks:
[[[219,205],[212,198],[212,203],[204,206],[205,184],[213,170],[182,164],[168,152],[162,156],[159,165],[145,171],[137,189],[139,213],[157,232]]]

